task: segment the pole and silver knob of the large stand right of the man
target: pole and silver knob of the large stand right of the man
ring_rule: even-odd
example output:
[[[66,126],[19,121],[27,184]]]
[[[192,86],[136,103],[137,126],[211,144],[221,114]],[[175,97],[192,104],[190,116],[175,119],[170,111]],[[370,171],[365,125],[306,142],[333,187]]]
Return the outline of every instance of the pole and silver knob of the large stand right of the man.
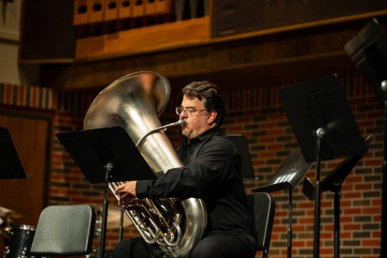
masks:
[[[325,136],[324,128],[318,128],[314,133],[316,137],[316,186],[314,202],[314,244],[313,257],[319,257],[320,246],[320,164],[321,164],[321,140]]]

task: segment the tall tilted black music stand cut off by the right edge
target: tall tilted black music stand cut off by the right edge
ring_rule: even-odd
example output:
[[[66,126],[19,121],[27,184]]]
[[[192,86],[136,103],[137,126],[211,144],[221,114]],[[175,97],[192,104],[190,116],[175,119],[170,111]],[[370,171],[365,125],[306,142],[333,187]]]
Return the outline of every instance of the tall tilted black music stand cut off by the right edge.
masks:
[[[372,19],[344,48],[384,106],[380,257],[387,257],[387,35],[377,20]]]

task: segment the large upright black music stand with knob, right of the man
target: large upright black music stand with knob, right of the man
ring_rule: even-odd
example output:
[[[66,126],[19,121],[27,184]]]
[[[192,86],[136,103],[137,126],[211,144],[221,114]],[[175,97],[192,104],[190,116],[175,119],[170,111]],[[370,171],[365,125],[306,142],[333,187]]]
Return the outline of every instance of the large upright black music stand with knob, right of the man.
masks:
[[[336,75],[280,90],[285,114],[306,162],[316,162],[313,257],[319,256],[321,160],[362,155],[367,147]]]

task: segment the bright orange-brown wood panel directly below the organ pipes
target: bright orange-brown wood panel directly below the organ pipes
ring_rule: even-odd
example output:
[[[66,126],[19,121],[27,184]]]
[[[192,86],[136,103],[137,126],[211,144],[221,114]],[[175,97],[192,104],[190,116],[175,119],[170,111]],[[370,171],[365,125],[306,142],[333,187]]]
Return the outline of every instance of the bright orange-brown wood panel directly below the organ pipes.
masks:
[[[204,17],[78,39],[75,57],[95,60],[203,43],[210,39],[209,22]]]

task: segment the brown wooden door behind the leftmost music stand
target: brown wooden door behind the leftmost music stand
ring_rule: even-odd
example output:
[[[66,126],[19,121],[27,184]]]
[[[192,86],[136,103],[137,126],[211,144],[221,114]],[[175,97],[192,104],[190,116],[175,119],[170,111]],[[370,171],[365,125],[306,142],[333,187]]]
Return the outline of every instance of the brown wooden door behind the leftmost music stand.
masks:
[[[4,111],[4,107],[0,110]],[[23,168],[31,177],[1,180],[0,205],[23,214],[23,218],[15,219],[13,224],[36,226],[47,204],[51,118],[29,116],[28,111],[5,113],[0,115],[0,125],[8,128]]]

